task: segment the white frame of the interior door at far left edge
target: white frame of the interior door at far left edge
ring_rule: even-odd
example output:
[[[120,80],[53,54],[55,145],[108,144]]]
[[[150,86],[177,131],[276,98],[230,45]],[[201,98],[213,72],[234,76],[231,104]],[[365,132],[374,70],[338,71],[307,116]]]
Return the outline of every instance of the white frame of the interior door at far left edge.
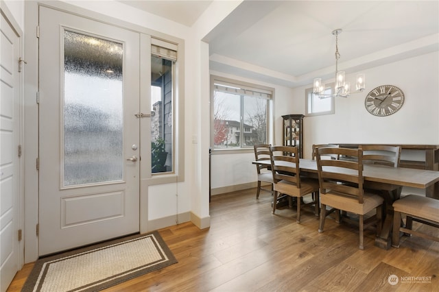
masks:
[[[12,27],[12,29],[14,29],[16,35],[19,38],[19,56],[21,56],[21,58],[23,58],[23,51],[24,51],[24,42],[23,42],[23,31],[21,30],[21,27],[19,25],[19,23],[16,21],[16,19],[14,19],[14,16],[12,15],[12,13],[10,12],[10,10],[8,9],[8,6],[5,5],[5,3],[3,2],[3,0],[1,1],[1,14],[3,14],[3,17],[5,18],[6,21],[8,21],[10,23],[10,26]],[[17,65],[18,65],[18,60],[17,61]],[[18,145],[21,145],[21,158],[19,158],[17,160],[18,165],[18,169],[19,169],[19,173],[17,173],[16,175],[19,178],[19,183],[18,186],[19,188],[17,188],[17,195],[18,198],[16,199],[16,206],[15,208],[18,208],[18,218],[16,218],[16,222],[18,223],[16,228],[18,230],[22,230],[22,232],[24,233],[24,202],[25,202],[25,197],[24,197],[24,172],[25,172],[25,147],[23,145],[23,141],[24,141],[24,79],[23,79],[23,74],[25,73],[25,64],[23,64],[23,66],[21,67],[21,73],[17,74],[17,77],[19,78],[19,86],[16,88],[17,90],[19,90],[19,117],[17,117],[16,121],[19,123],[19,127],[18,127],[18,141],[17,142],[17,147]],[[17,254],[19,255],[17,261],[17,266],[19,269],[21,269],[21,267],[23,267],[24,265],[24,247],[25,247],[25,241],[24,241],[24,234],[22,233],[22,239],[19,242],[19,250],[17,250]]]

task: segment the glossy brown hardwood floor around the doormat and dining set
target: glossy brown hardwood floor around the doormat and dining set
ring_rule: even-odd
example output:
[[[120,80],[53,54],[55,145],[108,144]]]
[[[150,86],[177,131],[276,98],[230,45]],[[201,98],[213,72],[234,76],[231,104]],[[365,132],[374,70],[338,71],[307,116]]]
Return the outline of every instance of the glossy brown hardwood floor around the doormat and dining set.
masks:
[[[106,291],[438,291],[439,243],[403,236],[399,249],[381,250],[375,230],[366,230],[359,250],[357,227],[328,218],[319,234],[311,211],[299,225],[293,209],[272,215],[271,199],[266,192],[256,199],[256,188],[213,196],[211,228],[159,230],[177,264]],[[8,291],[20,291],[32,267],[25,265]],[[389,284],[391,275],[398,284]]]

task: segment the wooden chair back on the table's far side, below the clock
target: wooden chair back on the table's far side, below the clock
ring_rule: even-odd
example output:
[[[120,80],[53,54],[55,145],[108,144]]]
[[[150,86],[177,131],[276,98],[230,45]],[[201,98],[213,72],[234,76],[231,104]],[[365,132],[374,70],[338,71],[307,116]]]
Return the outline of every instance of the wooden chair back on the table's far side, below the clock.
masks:
[[[401,147],[390,145],[361,145],[363,163],[399,167]]]

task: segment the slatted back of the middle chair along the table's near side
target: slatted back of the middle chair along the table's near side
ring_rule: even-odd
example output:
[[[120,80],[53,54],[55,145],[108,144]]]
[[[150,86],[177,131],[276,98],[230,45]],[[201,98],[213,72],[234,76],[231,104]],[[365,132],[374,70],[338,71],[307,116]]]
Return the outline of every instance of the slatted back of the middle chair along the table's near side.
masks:
[[[270,160],[274,183],[285,180],[300,188],[300,160],[297,147],[272,146],[270,147]]]

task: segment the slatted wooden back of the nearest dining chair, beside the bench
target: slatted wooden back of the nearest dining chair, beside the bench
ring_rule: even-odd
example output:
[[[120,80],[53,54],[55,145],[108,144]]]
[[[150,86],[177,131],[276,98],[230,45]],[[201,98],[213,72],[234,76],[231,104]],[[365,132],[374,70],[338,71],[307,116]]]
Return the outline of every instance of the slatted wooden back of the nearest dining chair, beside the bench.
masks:
[[[322,156],[332,154],[338,157],[353,157],[353,160],[325,160]],[[361,149],[348,148],[318,148],[317,168],[320,184],[320,193],[328,191],[340,193],[358,199],[363,203],[363,158]]]

